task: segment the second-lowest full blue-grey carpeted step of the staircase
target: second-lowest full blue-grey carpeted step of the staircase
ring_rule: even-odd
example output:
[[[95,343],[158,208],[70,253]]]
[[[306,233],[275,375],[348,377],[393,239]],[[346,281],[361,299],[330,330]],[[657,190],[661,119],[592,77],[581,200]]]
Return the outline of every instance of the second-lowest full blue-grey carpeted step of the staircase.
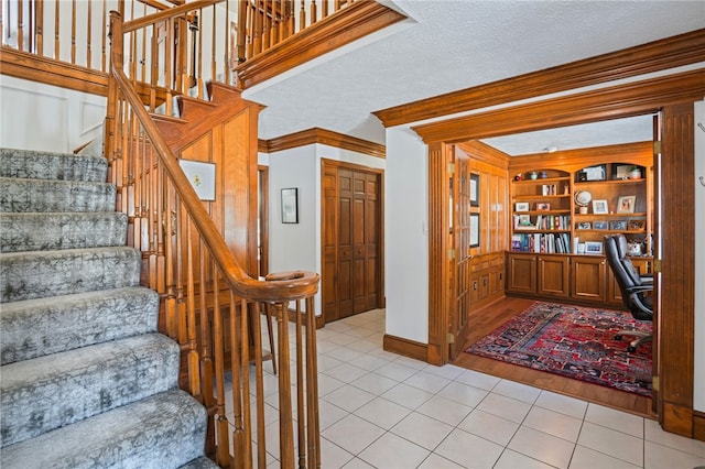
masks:
[[[178,360],[175,341],[144,334],[2,366],[2,446],[176,388]]]

